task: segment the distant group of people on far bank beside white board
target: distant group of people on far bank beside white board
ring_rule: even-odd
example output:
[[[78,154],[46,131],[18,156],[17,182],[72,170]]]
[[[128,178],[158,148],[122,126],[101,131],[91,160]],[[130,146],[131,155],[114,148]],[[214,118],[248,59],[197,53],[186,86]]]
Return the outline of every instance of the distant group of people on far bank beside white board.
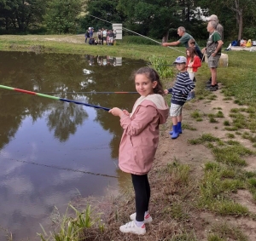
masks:
[[[97,44],[113,45],[116,38],[116,30],[102,28],[96,32],[96,36],[95,36],[94,28],[89,27],[88,31],[85,32],[84,36],[85,36],[85,43],[87,43],[87,39],[89,38],[90,45],[97,45]]]

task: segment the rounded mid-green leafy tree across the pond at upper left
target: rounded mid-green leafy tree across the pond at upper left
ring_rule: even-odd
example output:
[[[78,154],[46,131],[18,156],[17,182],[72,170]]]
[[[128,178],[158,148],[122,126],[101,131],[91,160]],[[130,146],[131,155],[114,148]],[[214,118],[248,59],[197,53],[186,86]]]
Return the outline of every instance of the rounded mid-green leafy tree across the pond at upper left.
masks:
[[[52,0],[47,4],[44,22],[52,33],[74,33],[82,8],[82,0]]]

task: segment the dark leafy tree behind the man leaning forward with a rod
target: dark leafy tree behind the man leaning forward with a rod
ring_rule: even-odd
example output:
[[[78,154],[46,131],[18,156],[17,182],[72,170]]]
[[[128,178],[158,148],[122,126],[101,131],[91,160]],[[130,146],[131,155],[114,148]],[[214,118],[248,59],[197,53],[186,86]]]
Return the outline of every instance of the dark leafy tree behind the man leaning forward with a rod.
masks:
[[[162,38],[163,42],[170,33],[177,37],[178,26],[192,26],[190,22],[196,15],[194,0],[138,0],[137,4],[119,0],[118,8],[125,14],[125,25],[144,35]]]

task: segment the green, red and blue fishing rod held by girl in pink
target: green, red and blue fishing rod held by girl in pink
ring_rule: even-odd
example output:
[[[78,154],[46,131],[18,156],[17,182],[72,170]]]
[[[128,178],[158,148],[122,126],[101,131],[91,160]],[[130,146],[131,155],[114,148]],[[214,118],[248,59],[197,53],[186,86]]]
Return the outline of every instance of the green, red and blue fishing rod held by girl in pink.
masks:
[[[38,96],[49,98],[49,99],[52,99],[52,100],[61,100],[61,101],[69,102],[69,103],[74,103],[74,104],[77,104],[77,105],[94,107],[96,109],[102,109],[102,110],[107,111],[107,112],[110,110],[110,108],[107,108],[107,107],[85,104],[83,102],[79,102],[79,101],[75,101],[75,100],[67,100],[67,99],[55,97],[55,96],[52,96],[52,95],[44,95],[44,94],[41,94],[41,93],[38,93],[38,92],[33,92],[33,91],[25,90],[25,89],[16,89],[16,88],[5,86],[5,85],[0,85],[0,88],[2,88],[2,89],[9,89],[9,90],[15,90],[17,92],[24,93],[24,94],[38,95]]]

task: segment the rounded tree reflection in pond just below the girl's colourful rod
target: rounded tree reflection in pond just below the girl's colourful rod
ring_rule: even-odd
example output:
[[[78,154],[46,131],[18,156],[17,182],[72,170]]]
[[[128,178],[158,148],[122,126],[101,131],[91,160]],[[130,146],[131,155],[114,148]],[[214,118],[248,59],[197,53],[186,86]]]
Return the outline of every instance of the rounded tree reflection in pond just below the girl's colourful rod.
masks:
[[[60,141],[67,141],[69,135],[75,134],[78,125],[81,125],[88,114],[83,106],[68,103],[58,103],[51,109],[47,126],[54,129],[55,137]]]

